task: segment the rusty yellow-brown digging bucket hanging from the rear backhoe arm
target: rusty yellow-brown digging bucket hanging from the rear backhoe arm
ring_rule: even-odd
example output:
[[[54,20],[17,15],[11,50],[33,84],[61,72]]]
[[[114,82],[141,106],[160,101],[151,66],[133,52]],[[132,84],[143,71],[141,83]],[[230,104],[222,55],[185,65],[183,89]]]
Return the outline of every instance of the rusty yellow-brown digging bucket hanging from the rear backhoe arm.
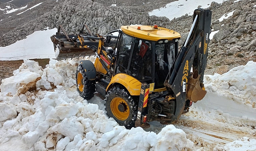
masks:
[[[196,79],[193,78],[193,74],[189,77],[187,83],[187,99],[196,103],[199,100],[202,100],[206,95],[206,91],[203,90],[199,82],[200,75]]]

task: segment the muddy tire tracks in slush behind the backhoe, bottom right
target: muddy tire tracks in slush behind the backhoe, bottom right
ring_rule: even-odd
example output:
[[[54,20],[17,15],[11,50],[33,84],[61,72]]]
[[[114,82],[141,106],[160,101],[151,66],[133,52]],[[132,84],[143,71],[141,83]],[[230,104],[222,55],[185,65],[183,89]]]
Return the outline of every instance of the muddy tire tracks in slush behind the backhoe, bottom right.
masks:
[[[203,148],[204,151],[212,151],[216,146],[225,145],[242,137],[256,139],[255,130],[252,128],[215,120],[207,122],[181,117],[175,127],[186,133],[187,138],[194,142],[196,149]]]

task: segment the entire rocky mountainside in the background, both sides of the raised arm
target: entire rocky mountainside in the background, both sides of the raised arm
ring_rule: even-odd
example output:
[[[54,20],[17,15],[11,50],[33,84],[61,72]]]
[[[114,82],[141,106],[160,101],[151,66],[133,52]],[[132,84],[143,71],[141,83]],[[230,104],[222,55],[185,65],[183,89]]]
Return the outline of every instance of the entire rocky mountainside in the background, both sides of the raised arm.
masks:
[[[45,27],[52,29],[63,25],[67,33],[73,34],[81,29],[83,23],[93,33],[101,34],[118,29],[121,25],[157,24],[178,31],[185,41],[192,25],[191,15],[168,19],[148,14],[173,1],[34,0],[28,2],[26,8],[9,14],[6,14],[6,10],[18,9],[18,6],[0,3],[0,46],[11,45]],[[29,9],[36,4],[40,5]],[[208,9],[212,11],[212,31],[218,33],[209,44],[206,73],[222,74],[234,66],[246,64],[248,60],[256,61],[256,0],[229,0],[222,4],[212,2]],[[230,12],[233,12],[230,17],[218,20]]]

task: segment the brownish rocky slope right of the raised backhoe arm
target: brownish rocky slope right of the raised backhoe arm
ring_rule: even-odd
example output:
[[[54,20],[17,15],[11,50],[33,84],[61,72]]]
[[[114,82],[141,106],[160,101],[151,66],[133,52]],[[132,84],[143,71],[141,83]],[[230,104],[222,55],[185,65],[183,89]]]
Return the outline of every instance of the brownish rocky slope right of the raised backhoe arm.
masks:
[[[213,36],[208,53],[208,69],[219,74],[249,60],[256,62],[256,0],[235,4],[228,1],[223,6],[214,12],[233,14],[223,21],[212,19],[212,29],[219,31]]]

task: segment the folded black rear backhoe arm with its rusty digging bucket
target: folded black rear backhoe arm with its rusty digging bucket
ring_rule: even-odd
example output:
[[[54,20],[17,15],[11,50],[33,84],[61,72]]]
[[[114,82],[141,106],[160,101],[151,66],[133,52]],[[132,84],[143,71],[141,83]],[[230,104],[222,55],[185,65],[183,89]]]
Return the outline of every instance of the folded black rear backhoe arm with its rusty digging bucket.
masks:
[[[191,31],[165,80],[167,91],[176,98],[175,119],[183,113],[187,100],[196,102],[206,94],[203,78],[210,42],[210,23],[210,10],[194,10]],[[193,74],[190,73],[192,66]]]

